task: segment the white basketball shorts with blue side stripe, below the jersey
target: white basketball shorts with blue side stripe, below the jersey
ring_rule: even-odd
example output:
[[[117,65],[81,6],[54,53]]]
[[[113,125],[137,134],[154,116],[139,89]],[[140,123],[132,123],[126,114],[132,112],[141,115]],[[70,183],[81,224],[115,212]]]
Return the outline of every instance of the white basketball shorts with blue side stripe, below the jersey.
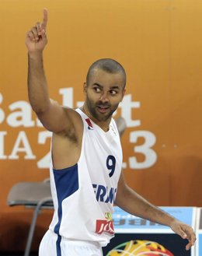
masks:
[[[80,240],[68,240],[47,230],[40,242],[39,256],[103,256],[99,243]]]

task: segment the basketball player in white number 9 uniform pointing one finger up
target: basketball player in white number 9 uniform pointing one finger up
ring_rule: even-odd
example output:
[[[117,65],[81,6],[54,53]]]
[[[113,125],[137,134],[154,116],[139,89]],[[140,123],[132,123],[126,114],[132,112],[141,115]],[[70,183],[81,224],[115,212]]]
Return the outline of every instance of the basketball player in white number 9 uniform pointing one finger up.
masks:
[[[125,93],[124,68],[112,59],[92,64],[76,110],[50,100],[44,75],[47,9],[42,23],[26,35],[30,103],[51,142],[51,192],[54,216],[40,244],[40,256],[99,256],[113,237],[113,203],[135,216],[170,226],[188,240],[193,229],[147,202],[129,188],[121,173],[122,149],[112,114]]]

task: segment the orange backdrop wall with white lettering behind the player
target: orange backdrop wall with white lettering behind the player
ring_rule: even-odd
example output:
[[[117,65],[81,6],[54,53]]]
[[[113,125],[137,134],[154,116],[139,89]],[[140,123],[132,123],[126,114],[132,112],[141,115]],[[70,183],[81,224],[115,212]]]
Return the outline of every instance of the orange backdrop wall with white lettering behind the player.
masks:
[[[201,206],[200,0],[1,0],[0,250],[22,250],[32,214],[6,205],[9,189],[49,175],[51,134],[28,103],[24,44],[44,7],[51,98],[79,106],[89,65],[99,58],[120,61],[127,92],[114,117],[127,121],[122,143],[128,183],[156,205]],[[51,215],[40,216],[33,247]]]

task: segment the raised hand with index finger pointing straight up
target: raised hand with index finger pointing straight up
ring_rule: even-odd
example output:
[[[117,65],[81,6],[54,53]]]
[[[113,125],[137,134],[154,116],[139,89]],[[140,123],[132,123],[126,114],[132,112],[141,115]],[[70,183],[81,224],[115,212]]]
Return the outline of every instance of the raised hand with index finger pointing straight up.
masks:
[[[47,9],[44,9],[44,18],[42,23],[37,23],[26,33],[26,47],[29,53],[42,52],[47,44]]]

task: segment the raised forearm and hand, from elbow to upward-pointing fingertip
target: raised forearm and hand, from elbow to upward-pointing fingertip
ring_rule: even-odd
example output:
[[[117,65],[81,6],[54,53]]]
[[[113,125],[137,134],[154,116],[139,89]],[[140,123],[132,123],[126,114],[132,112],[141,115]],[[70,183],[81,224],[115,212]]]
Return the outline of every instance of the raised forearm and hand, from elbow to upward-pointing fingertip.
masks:
[[[44,74],[43,51],[47,44],[47,10],[44,9],[43,23],[37,23],[26,34],[28,49],[28,95],[33,110],[43,112],[50,107],[47,80]]]

